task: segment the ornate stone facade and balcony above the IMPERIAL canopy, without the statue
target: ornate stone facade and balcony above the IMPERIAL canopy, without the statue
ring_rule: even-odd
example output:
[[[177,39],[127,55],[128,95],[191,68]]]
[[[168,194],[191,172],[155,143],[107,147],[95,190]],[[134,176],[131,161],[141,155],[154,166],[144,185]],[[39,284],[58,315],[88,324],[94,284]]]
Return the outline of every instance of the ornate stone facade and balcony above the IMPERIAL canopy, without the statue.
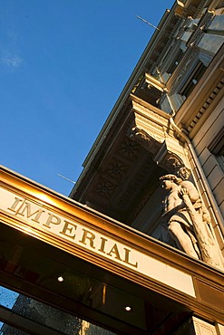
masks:
[[[221,253],[223,14],[221,1],[177,1],[163,15],[71,193],[162,239],[160,177],[186,168]]]

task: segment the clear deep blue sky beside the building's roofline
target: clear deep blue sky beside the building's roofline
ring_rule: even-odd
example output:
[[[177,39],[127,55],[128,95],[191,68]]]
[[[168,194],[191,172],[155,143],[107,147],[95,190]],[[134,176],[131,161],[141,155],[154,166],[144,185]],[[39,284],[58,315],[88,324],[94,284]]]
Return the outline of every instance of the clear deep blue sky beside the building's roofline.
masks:
[[[0,0],[0,164],[68,196],[173,0]]]

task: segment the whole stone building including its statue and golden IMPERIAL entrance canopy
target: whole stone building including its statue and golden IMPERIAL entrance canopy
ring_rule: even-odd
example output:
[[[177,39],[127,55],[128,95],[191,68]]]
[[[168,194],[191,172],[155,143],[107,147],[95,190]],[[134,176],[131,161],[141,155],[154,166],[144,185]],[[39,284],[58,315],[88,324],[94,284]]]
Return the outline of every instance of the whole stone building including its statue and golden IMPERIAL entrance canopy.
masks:
[[[2,334],[224,334],[223,33],[174,2],[70,197],[0,168]]]

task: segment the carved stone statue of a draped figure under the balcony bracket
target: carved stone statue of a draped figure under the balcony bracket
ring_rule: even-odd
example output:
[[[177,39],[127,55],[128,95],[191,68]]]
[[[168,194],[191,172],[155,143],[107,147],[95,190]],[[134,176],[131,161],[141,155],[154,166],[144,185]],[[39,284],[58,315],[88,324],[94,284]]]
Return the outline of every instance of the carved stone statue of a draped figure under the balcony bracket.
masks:
[[[202,205],[196,187],[184,180],[189,177],[188,169],[182,168],[179,176],[161,177],[162,187],[169,191],[162,202],[162,240],[168,242],[170,236],[181,251],[224,270],[209,211]],[[165,238],[164,232],[167,232]]]

